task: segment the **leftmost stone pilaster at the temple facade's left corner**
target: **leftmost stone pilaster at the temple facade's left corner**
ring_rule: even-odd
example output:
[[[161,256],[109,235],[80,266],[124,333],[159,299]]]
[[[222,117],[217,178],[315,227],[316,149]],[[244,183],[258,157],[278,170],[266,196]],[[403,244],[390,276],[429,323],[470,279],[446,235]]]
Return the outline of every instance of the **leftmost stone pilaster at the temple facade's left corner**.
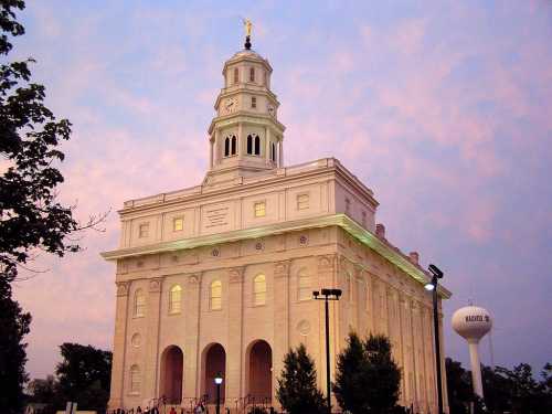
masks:
[[[123,407],[129,287],[129,282],[117,282],[109,410]]]

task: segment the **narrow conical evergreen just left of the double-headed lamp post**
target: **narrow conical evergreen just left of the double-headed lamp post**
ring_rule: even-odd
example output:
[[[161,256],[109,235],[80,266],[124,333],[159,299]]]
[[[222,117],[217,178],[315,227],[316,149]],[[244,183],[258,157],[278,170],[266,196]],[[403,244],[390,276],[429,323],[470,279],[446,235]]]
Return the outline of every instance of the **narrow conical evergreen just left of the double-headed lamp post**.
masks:
[[[325,412],[323,395],[316,384],[315,362],[301,343],[290,349],[284,359],[284,370],[278,379],[276,397],[289,414],[317,414]]]

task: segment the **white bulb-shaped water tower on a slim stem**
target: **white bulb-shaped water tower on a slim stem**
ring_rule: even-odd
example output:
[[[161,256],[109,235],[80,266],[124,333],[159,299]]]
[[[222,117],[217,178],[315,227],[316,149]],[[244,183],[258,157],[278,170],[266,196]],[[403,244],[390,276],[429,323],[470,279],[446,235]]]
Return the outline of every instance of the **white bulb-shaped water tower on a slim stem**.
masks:
[[[482,399],[481,365],[477,346],[479,340],[492,327],[492,320],[487,309],[478,306],[466,306],[453,315],[453,329],[468,341],[469,359],[471,361],[471,382],[474,392]]]

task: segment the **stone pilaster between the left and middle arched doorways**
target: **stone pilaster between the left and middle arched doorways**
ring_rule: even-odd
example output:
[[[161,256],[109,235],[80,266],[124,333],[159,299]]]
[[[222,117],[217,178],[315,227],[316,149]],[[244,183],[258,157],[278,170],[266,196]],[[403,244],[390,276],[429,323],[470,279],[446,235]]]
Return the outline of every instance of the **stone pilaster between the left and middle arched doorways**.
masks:
[[[201,273],[188,276],[184,290],[185,318],[185,342],[184,371],[182,381],[183,401],[188,403],[191,399],[200,396],[199,376],[201,371],[200,361],[200,328],[201,328]]]

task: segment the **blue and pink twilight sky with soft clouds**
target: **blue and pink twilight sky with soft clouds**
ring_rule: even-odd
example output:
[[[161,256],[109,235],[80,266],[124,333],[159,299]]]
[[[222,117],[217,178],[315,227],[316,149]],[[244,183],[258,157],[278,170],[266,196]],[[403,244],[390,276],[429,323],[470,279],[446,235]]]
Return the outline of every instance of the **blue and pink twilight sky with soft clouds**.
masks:
[[[73,123],[60,198],[110,210],[84,251],[41,256],[15,286],[33,316],[31,378],[65,341],[112,346],[125,200],[197,185],[226,59],[274,67],[287,164],[338,158],[373,189],[376,221],[403,252],[445,272],[446,354],[474,304],[495,320],[493,362],[552,361],[552,1],[54,1],[19,13],[50,108]],[[491,363],[489,341],[481,359]]]

